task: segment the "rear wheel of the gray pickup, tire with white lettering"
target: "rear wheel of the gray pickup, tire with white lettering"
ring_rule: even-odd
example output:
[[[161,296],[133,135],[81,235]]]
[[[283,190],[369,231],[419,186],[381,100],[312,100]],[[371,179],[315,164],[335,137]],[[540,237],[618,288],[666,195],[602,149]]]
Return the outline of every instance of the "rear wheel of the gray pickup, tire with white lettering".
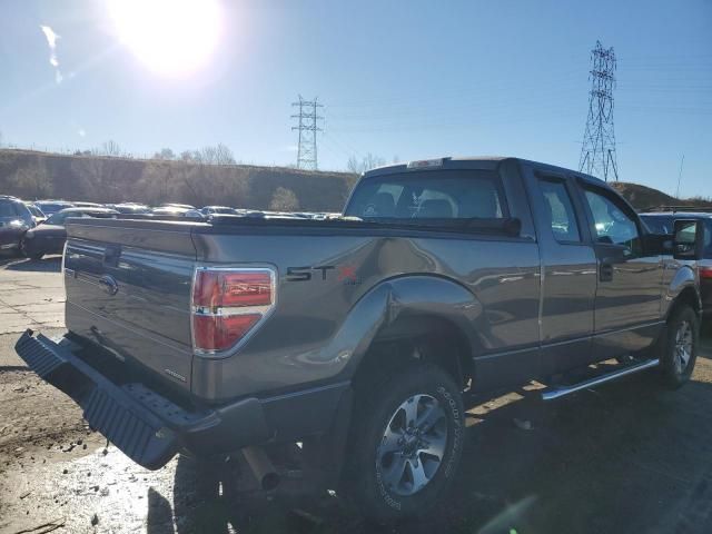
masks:
[[[465,413],[453,378],[432,364],[403,365],[357,392],[347,453],[347,493],[379,523],[435,506],[457,473],[464,443]],[[412,424],[406,431],[413,416],[421,432]]]

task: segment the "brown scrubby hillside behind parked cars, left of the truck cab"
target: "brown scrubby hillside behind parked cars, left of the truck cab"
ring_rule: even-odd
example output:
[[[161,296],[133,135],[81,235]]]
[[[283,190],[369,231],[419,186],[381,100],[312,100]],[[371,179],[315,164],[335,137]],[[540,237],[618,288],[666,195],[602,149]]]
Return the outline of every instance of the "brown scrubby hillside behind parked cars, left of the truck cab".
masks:
[[[0,150],[0,195],[28,199],[339,211],[356,178],[284,167]]]

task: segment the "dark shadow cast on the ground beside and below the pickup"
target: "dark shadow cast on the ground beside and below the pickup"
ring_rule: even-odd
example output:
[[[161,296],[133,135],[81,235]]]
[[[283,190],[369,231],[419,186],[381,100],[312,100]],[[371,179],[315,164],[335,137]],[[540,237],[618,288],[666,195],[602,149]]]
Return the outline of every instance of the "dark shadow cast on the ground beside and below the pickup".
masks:
[[[149,490],[148,532],[174,532],[174,522],[179,533],[220,534],[709,532],[710,405],[709,384],[671,392],[643,373],[552,404],[530,393],[478,409],[449,498],[388,527],[335,497],[298,506],[246,498],[230,491],[230,469],[180,458],[172,504]]]

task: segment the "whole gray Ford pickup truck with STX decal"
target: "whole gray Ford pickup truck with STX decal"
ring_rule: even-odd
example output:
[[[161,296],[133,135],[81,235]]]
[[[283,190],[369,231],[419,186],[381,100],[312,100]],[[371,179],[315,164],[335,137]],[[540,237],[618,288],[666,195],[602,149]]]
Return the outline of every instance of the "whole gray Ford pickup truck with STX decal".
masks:
[[[676,387],[695,363],[701,225],[651,235],[601,180],[534,161],[372,170],[330,220],[67,228],[69,332],[17,352],[93,428],[151,469],[241,451],[266,487],[298,443],[378,520],[447,490],[477,394],[655,366]]]

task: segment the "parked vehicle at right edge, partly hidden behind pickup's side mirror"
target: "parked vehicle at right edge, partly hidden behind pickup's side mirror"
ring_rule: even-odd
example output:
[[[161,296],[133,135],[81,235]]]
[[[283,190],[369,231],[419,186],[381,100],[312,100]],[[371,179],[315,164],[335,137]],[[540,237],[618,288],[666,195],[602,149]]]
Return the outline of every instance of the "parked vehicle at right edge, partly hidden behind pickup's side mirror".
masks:
[[[703,211],[695,206],[662,206],[641,214],[641,219],[656,234],[672,234],[678,219],[699,219],[703,221],[704,250],[698,261],[700,290],[702,296],[702,317],[712,314],[712,211]],[[709,323],[705,320],[705,323]]]

